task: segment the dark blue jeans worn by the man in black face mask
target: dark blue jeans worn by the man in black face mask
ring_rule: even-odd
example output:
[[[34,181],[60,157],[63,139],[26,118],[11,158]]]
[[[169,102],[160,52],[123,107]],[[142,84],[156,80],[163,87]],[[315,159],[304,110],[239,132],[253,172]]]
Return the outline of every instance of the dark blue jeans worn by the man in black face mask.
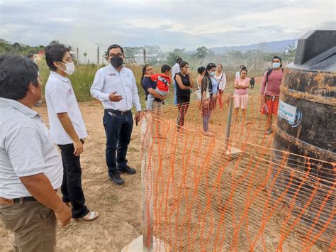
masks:
[[[106,163],[108,175],[112,175],[127,165],[127,149],[133,129],[133,116],[116,114],[105,109],[103,126],[106,133]]]

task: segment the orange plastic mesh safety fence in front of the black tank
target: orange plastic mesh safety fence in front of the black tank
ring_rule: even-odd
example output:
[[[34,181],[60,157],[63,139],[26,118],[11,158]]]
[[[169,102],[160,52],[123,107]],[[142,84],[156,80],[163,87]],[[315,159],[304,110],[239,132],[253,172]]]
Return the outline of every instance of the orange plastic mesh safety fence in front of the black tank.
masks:
[[[176,106],[143,115],[145,246],[333,251],[336,164],[272,149],[259,96],[250,96],[245,118],[233,111],[228,127],[229,99],[213,106],[213,136],[203,133],[200,102],[184,108],[180,127]]]

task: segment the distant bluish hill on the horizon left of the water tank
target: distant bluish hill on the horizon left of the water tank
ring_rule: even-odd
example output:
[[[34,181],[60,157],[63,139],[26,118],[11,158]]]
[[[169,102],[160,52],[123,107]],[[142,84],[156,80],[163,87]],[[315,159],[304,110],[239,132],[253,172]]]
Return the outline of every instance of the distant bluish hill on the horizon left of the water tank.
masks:
[[[296,43],[297,39],[271,41],[252,45],[223,46],[220,48],[210,48],[215,54],[222,54],[228,50],[239,50],[245,53],[247,50],[262,50],[264,53],[283,53],[289,49],[289,45]]]

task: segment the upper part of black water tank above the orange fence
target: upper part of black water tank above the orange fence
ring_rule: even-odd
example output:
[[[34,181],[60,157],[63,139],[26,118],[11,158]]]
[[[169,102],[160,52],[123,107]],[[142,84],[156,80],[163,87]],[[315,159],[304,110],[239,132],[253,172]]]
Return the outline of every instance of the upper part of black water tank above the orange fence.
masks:
[[[298,40],[295,62],[284,70],[280,99],[274,146],[335,161],[336,31],[313,31]]]

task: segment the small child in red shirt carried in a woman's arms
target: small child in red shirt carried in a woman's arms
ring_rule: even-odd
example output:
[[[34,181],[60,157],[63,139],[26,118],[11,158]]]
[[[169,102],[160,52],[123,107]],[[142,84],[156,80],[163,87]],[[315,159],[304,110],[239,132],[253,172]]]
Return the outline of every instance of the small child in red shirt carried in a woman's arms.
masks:
[[[150,76],[150,79],[153,82],[157,82],[157,87],[155,88],[155,91],[158,94],[162,95],[163,97],[166,96],[169,92],[169,84],[171,82],[170,70],[172,70],[172,67],[170,67],[169,65],[162,65],[161,74]],[[148,97],[147,97],[147,109],[148,110],[152,109],[154,99],[155,97],[152,94],[148,94]]]

